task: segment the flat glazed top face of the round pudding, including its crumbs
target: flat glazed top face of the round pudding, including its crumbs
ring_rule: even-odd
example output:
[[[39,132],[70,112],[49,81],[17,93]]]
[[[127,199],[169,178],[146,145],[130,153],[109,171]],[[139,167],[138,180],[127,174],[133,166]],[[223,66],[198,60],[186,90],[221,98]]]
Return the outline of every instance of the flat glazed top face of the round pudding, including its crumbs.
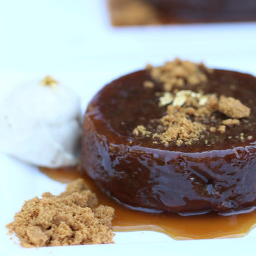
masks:
[[[254,143],[255,86],[249,74],[175,59],[116,79],[92,105],[109,122],[113,142],[117,135],[131,146],[226,150]]]

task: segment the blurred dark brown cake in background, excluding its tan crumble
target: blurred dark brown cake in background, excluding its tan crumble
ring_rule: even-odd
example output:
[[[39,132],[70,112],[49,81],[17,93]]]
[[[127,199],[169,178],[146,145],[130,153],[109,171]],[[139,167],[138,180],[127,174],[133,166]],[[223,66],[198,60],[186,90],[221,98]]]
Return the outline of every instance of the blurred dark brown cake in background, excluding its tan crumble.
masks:
[[[254,0],[144,0],[180,22],[241,22],[256,19]]]

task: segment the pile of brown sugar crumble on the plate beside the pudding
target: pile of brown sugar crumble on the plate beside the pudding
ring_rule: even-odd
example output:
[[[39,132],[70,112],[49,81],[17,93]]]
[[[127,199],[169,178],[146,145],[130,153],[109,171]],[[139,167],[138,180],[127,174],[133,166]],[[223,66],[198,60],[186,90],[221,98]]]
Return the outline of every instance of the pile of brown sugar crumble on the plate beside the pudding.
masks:
[[[23,247],[111,243],[114,209],[98,206],[97,197],[80,178],[59,196],[49,192],[25,202],[9,223]]]

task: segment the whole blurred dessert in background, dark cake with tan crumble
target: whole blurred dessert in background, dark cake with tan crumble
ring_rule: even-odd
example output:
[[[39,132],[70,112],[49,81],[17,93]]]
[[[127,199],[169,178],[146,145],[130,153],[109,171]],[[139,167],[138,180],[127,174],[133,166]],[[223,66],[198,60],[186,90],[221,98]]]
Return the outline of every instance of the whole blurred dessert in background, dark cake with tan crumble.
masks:
[[[108,0],[114,26],[256,20],[253,0]]]

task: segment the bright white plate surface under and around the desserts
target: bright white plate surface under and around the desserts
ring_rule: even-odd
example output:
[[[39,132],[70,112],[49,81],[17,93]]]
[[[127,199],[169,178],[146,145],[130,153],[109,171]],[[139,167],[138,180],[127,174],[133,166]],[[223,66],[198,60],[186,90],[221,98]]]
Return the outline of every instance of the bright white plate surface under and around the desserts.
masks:
[[[51,74],[73,87],[84,111],[108,81],[174,57],[204,61],[215,68],[256,74],[256,23],[112,28],[105,1],[32,1],[1,3],[4,26],[0,49],[0,98],[20,82]],[[0,25],[1,26],[1,25]],[[255,255],[256,230],[244,238],[175,241],[156,232],[116,233],[115,244],[23,249],[6,235],[24,200],[65,185],[36,169],[0,155],[0,255],[148,254]]]

